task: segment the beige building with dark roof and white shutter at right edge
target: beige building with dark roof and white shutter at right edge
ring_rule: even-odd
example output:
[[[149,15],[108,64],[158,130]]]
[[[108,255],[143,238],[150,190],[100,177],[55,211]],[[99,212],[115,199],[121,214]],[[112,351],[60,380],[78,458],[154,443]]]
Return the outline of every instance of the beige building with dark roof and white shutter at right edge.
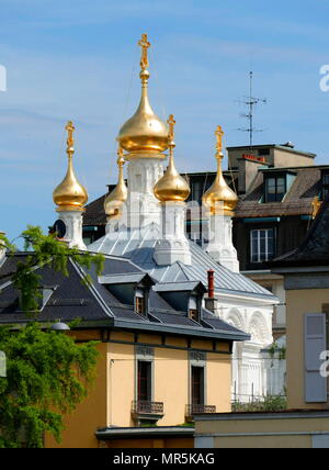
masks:
[[[287,410],[197,416],[196,447],[329,448],[329,201],[302,246],[272,262],[286,293]]]

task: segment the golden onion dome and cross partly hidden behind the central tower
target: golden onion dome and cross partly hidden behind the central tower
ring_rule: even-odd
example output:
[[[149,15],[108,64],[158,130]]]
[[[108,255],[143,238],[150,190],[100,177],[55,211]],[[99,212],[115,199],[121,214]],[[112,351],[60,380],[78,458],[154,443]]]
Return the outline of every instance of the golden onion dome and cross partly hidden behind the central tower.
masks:
[[[117,160],[118,167],[118,179],[117,184],[113,189],[113,191],[106,195],[104,200],[104,211],[107,215],[107,220],[120,219],[122,215],[123,204],[127,200],[127,187],[125,184],[124,176],[123,176],[123,166],[125,164],[125,159],[123,156],[123,148],[120,146],[117,149]]]

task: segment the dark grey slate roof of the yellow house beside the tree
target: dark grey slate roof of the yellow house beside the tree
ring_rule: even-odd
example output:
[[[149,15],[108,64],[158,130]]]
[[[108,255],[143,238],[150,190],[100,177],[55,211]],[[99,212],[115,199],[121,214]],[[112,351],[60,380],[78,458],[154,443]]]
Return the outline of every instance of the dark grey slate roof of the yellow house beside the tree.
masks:
[[[23,260],[26,254],[20,254],[5,259],[0,267],[0,324],[25,323],[29,320],[24,312],[20,311],[19,292],[12,283],[8,282],[8,273],[16,266],[18,260]],[[52,289],[41,313],[34,320],[39,322],[54,322],[61,318],[69,322],[81,318],[81,326],[93,325],[94,327],[128,328],[129,331],[148,331],[159,333],[183,334],[188,336],[205,338],[225,338],[228,340],[246,340],[249,335],[232,328],[225,322],[217,326],[197,324],[188,318],[186,312],[180,312],[169,304],[160,293],[150,290],[149,316],[145,317],[135,312],[134,305],[124,305],[99,281],[94,269],[88,273],[92,279],[91,286],[81,282],[83,270],[72,260],[68,262],[69,276],[65,277],[55,272],[49,267],[38,268],[36,272],[42,277],[42,286]],[[118,275],[117,275],[117,272]],[[134,272],[134,275],[132,275]],[[121,280],[127,276],[136,280],[143,278],[146,271],[134,266],[128,259],[118,257],[106,257],[104,279],[106,275],[116,276]],[[1,278],[1,276],[3,276]],[[4,280],[7,282],[4,282]],[[216,320],[211,312],[204,311]]]

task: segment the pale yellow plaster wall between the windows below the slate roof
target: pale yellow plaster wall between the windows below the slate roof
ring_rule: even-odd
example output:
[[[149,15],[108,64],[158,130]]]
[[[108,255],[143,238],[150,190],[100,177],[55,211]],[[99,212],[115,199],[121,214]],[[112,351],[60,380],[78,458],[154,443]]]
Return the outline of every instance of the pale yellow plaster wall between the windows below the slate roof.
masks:
[[[88,332],[77,336],[88,339]],[[94,332],[91,332],[91,337],[95,337]],[[163,347],[160,345],[160,335],[140,335],[138,344],[141,339],[154,348],[154,401],[163,402],[164,406],[164,416],[158,421],[158,425],[183,424],[185,407],[190,404],[188,342],[172,336],[167,347]],[[230,411],[230,355],[209,352],[212,340],[193,340],[192,346],[206,350],[205,403],[216,405],[217,412]],[[100,357],[93,389],[86,401],[70,416],[65,417],[67,429],[63,434],[63,443],[58,446],[47,435],[46,447],[99,447],[94,437],[97,428],[136,425],[131,414],[132,402],[136,398],[135,347],[134,336],[123,332],[111,333],[110,343],[98,346]],[[227,342],[217,342],[216,349],[228,350]]]

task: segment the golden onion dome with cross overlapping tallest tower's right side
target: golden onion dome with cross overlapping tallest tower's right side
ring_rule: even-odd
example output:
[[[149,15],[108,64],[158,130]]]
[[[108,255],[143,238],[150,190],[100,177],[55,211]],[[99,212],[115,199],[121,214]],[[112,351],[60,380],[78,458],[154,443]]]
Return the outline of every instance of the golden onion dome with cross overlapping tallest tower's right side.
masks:
[[[173,149],[175,147],[173,115],[170,114],[168,121],[168,147],[169,147],[169,165],[167,171],[155,186],[155,194],[161,202],[168,201],[185,201],[190,195],[190,187],[186,180],[180,176],[173,163]]]

